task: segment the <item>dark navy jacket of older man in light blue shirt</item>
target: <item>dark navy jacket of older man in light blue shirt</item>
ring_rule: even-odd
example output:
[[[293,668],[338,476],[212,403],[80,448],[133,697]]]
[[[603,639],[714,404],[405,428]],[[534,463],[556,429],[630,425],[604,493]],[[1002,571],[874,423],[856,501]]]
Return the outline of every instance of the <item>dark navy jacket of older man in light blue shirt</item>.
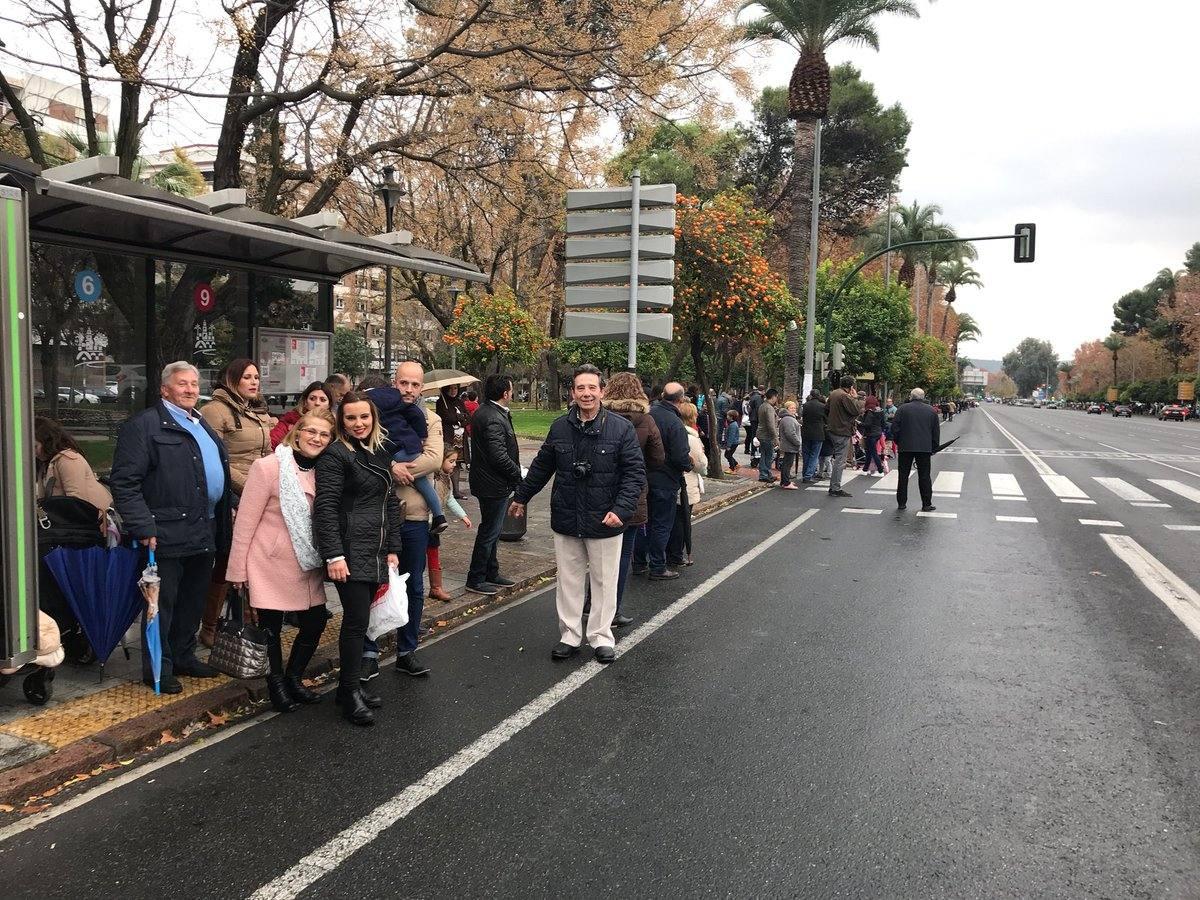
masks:
[[[125,532],[137,539],[157,538],[162,557],[224,553],[233,538],[229,515],[229,456],[208,422],[200,425],[217,445],[224,469],[224,494],[208,522],[209,488],[200,448],[162,402],[134,415],[121,427],[108,476],[113,502]]]

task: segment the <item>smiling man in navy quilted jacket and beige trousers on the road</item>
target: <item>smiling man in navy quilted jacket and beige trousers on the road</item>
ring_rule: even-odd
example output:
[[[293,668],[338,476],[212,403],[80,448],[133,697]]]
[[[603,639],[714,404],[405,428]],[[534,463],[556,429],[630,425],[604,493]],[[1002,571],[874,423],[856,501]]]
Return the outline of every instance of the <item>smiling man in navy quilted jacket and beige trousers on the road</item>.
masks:
[[[574,408],[550,426],[546,443],[517,485],[512,515],[551,475],[550,528],[558,563],[558,631],[554,659],[578,653],[583,643],[584,584],[590,582],[588,643],[598,662],[612,662],[612,619],[617,613],[617,580],[625,523],[637,511],[646,486],[646,463],[632,422],[601,409],[604,380],[595,366],[580,366],[571,378]]]

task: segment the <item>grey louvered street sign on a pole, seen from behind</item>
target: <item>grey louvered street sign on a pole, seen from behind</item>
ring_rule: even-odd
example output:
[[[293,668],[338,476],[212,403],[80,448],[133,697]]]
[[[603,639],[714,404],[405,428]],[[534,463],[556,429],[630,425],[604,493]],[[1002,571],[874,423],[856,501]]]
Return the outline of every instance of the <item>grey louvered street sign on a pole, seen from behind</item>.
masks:
[[[630,368],[638,341],[671,341],[674,202],[674,185],[643,187],[636,169],[629,187],[566,192],[564,337],[625,340]]]

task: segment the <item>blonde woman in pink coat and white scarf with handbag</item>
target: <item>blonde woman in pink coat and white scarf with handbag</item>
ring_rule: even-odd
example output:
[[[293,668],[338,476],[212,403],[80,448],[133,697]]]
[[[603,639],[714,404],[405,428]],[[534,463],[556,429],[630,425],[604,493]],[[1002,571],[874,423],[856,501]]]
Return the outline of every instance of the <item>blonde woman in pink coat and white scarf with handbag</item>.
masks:
[[[275,454],[250,467],[234,522],[226,577],[234,588],[248,586],[250,605],[270,636],[266,690],[281,713],[320,700],[302,679],[328,619],[325,560],[312,538],[312,500],[317,457],[334,431],[329,410],[305,413]],[[288,612],[296,613],[300,634],[284,668],[280,631]]]

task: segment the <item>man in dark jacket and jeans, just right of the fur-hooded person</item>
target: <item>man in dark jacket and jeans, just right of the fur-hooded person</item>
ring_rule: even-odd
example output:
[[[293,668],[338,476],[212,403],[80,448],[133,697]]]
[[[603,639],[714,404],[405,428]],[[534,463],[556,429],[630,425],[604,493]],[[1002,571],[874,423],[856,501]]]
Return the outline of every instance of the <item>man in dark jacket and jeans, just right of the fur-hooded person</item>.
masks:
[[[671,382],[662,389],[662,396],[650,404],[650,418],[662,436],[666,456],[661,466],[647,473],[646,534],[638,533],[634,544],[634,570],[649,572],[655,581],[678,578],[679,572],[667,569],[667,545],[676,523],[676,506],[683,488],[683,473],[691,472],[691,452],[688,450],[688,432],[679,418],[679,404],[684,401],[683,385]]]

